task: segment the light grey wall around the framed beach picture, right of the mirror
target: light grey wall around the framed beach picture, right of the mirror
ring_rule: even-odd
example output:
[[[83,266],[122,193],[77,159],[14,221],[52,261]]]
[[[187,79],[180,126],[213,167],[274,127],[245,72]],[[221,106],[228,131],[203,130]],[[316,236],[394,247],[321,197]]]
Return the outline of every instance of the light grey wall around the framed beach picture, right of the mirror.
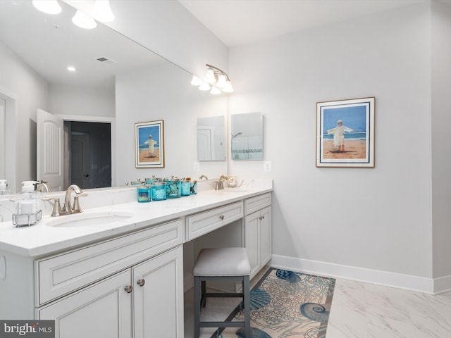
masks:
[[[229,59],[230,113],[264,113],[272,167],[232,161],[229,173],[273,177],[273,262],[430,289],[429,4],[238,46]],[[376,168],[316,168],[316,102],[366,96]]]

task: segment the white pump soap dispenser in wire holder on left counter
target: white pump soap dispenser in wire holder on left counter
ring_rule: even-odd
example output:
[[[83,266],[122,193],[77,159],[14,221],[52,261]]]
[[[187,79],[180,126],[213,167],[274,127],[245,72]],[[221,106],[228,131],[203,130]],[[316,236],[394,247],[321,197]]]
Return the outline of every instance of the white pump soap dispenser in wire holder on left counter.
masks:
[[[34,225],[41,220],[39,209],[39,194],[35,192],[36,181],[22,182],[22,192],[16,199],[16,214],[13,215],[13,224],[20,227],[23,225]]]

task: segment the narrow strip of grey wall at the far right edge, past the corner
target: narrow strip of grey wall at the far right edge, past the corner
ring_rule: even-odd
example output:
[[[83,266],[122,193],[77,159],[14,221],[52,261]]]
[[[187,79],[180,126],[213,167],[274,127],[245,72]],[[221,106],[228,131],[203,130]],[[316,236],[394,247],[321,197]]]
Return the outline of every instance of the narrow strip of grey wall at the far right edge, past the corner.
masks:
[[[451,284],[451,4],[433,2],[432,10],[433,277],[440,289]]]

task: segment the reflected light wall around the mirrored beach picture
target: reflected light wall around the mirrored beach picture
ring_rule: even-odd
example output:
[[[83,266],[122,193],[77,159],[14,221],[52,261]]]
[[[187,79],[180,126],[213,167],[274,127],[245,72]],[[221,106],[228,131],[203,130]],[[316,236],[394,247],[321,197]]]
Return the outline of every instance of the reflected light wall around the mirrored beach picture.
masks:
[[[116,77],[117,182],[145,177],[219,177],[226,161],[197,162],[197,118],[227,115],[226,96],[201,92],[170,63]],[[135,168],[135,123],[163,120],[165,168]]]

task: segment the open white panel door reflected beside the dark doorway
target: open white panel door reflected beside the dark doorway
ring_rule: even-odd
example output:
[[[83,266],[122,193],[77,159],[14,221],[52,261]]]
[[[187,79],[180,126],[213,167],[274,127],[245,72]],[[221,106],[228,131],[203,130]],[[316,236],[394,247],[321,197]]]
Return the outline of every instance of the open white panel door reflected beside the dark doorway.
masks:
[[[63,190],[63,119],[37,109],[36,175],[51,191]]]

